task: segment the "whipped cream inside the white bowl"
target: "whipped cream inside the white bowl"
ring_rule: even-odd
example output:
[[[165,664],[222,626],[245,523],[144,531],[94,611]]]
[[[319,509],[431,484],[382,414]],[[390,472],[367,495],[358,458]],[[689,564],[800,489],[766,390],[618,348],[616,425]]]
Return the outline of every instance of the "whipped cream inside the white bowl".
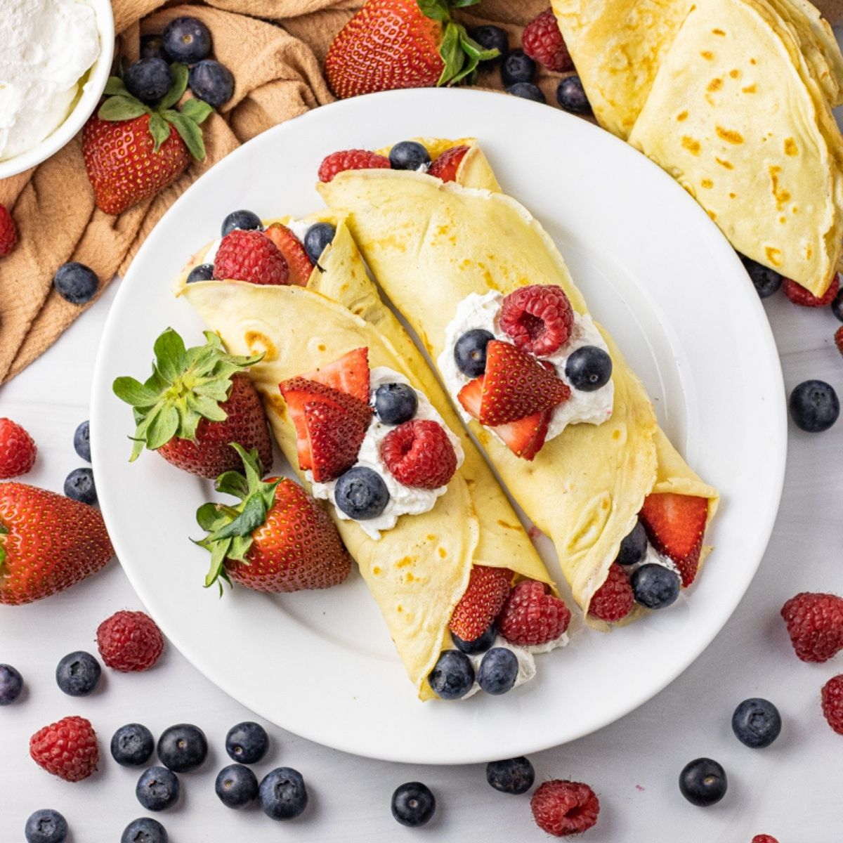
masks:
[[[94,8],[85,0],[0,3],[0,161],[54,132],[99,56]]]

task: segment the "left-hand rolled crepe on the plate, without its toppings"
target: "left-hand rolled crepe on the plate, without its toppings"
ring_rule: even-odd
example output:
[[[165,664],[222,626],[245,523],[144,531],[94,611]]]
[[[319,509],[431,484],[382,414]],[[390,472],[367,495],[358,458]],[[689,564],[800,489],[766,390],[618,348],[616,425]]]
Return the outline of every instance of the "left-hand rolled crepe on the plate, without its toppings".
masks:
[[[422,700],[440,652],[450,646],[448,621],[473,565],[508,568],[516,577],[549,583],[550,576],[481,454],[465,435],[421,353],[381,302],[345,224],[319,258],[308,287],[245,282],[176,282],[184,296],[233,353],[263,359],[250,368],[283,454],[298,470],[297,439],[278,384],[368,347],[372,367],[388,366],[431,401],[459,436],[464,463],[427,513],[403,515],[379,540],[355,521],[336,517],[342,540],[379,604],[407,674]],[[315,220],[314,220],[315,221]],[[285,220],[282,220],[285,222]],[[207,250],[191,259],[202,262]],[[305,487],[309,481],[298,471]]]

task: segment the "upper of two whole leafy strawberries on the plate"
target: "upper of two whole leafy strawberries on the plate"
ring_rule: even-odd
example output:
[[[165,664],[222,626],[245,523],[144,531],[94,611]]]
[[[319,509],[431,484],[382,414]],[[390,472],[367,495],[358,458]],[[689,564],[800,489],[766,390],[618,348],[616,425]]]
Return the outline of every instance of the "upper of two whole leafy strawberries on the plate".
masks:
[[[146,447],[177,468],[210,478],[239,467],[231,448],[236,442],[271,462],[266,415],[244,374],[261,356],[234,357],[216,334],[206,331],[205,338],[204,346],[185,348],[168,328],[155,341],[153,373],[145,383],[115,380],[112,389],[132,405],[137,424],[130,459]]]

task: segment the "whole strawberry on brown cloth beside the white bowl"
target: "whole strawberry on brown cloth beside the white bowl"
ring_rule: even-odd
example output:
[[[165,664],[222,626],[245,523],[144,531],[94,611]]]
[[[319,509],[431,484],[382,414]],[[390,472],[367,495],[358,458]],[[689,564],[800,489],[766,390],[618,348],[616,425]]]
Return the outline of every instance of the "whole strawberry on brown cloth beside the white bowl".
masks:
[[[122,213],[171,185],[191,163],[205,158],[199,124],[212,112],[201,99],[174,106],[187,88],[188,70],[173,64],[173,85],[158,105],[144,105],[118,77],[105,86],[105,102],[85,124],[82,152],[100,211]],[[175,128],[175,132],[173,129]]]

